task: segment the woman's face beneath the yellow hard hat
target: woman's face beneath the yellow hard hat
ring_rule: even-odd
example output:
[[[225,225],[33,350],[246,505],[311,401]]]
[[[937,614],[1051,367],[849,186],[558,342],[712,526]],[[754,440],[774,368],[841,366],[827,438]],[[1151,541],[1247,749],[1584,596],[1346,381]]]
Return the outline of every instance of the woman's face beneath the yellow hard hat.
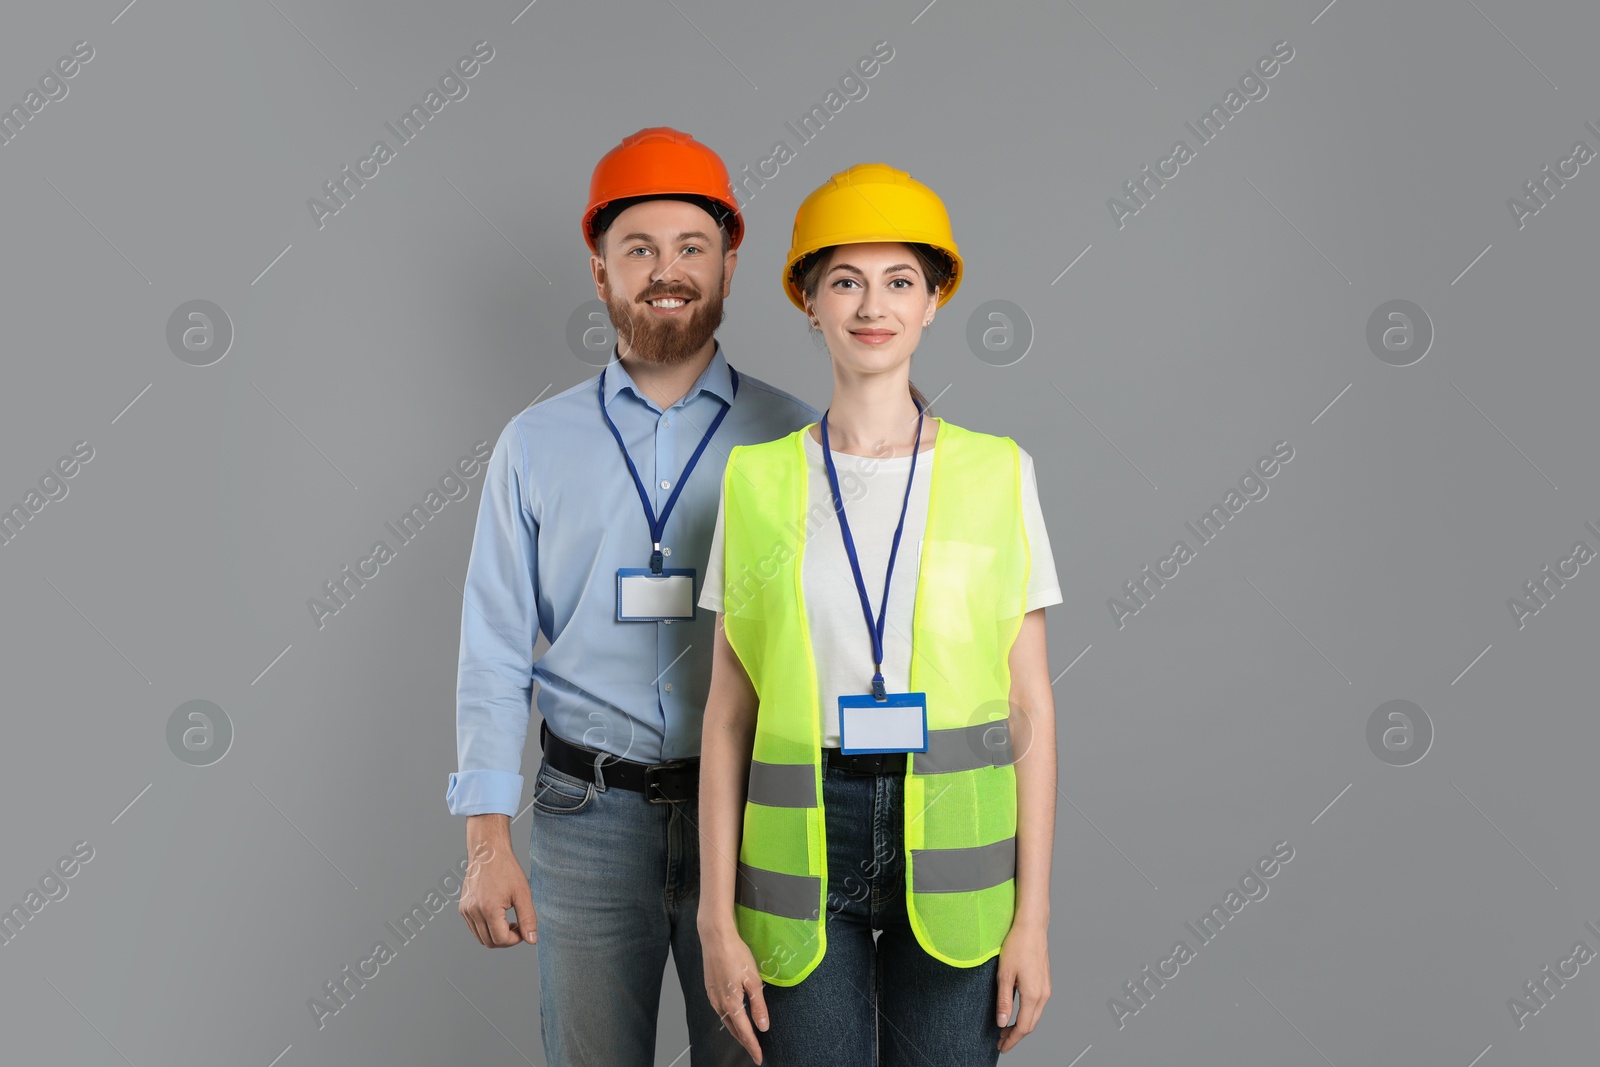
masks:
[[[870,374],[910,360],[939,296],[910,248],[882,242],[835,248],[808,304],[834,362]]]

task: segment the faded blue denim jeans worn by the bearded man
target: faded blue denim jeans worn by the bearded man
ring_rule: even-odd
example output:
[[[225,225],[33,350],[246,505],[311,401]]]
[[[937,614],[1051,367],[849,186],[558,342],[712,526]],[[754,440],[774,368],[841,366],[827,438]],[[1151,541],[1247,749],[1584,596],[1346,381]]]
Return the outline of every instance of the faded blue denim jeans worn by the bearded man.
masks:
[[[666,1049],[661,1062],[754,1062],[706,997],[696,813],[694,800],[650,803],[541,758],[528,885],[539,920],[539,1035],[550,1067],[656,1064],[669,947],[683,985],[690,1054]]]

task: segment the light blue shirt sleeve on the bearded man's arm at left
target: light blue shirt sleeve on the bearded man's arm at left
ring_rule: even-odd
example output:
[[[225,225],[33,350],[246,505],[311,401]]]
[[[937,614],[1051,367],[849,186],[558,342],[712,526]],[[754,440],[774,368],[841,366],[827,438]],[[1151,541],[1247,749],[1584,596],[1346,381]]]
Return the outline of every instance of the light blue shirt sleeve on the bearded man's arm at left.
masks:
[[[533,648],[539,637],[538,523],[530,509],[528,450],[512,421],[483,475],[461,605],[456,757],[451,814],[517,814],[528,739]]]

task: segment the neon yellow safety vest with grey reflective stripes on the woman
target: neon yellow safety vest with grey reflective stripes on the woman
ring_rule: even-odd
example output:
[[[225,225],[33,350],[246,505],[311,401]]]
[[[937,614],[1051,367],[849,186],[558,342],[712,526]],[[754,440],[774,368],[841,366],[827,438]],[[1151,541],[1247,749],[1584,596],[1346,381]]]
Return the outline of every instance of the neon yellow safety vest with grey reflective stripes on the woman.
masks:
[[[800,576],[811,514],[832,501],[808,501],[810,429],[736,446],[723,472],[723,624],[760,701],[734,920],[773,985],[798,984],[827,949],[821,709]],[[1010,437],[939,419],[933,458],[910,664],[910,689],[928,694],[928,750],[906,760],[906,912],[930,955],[978,966],[998,955],[1016,907],[1021,454]],[[866,648],[862,633],[862,693]]]

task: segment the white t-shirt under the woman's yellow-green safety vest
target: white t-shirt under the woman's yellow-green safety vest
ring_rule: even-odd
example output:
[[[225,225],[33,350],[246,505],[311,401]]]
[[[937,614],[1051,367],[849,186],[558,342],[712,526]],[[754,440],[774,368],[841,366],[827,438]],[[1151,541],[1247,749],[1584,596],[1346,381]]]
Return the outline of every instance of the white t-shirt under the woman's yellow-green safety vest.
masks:
[[[845,555],[845,537],[834,514],[834,496],[827,486],[822,445],[805,438],[806,466],[811,483],[808,494],[806,550],[800,574],[805,590],[806,622],[811,627],[811,649],[816,654],[816,681],[821,696],[822,745],[838,747],[838,697],[846,693],[872,691],[872,633],[861,613],[861,593]],[[1038,506],[1034,482],[1034,459],[1021,450],[1022,522],[1027,531],[1032,568],[1027,576],[1026,611],[1062,601],[1056,579],[1056,563],[1050,553],[1050,534]],[[877,470],[872,470],[877,464]],[[866,470],[862,467],[866,466]],[[875,459],[834,451],[838,472],[838,494],[845,501],[850,536],[856,542],[861,579],[867,587],[872,617],[883,601],[883,571],[890,561],[894,523],[906,499],[906,475],[910,456]],[[922,569],[922,539],[928,526],[928,486],[933,477],[933,450],[917,453],[917,480],[906,501],[906,530],[894,553],[894,581],[890,582],[890,605],[883,622],[883,681],[890,693],[910,689],[910,627],[917,603],[917,574]],[[699,606],[722,611],[722,514],[717,506],[717,530],[712,534],[710,558],[701,587]]]

